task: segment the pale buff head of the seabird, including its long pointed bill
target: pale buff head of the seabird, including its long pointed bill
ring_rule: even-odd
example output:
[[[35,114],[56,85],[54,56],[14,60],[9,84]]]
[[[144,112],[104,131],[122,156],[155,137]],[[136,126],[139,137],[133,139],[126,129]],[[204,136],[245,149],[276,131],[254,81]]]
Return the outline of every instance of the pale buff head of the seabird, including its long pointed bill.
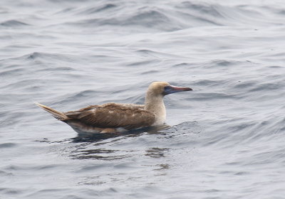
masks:
[[[147,94],[152,96],[165,96],[175,92],[189,91],[190,87],[175,87],[167,82],[152,82],[147,89]]]

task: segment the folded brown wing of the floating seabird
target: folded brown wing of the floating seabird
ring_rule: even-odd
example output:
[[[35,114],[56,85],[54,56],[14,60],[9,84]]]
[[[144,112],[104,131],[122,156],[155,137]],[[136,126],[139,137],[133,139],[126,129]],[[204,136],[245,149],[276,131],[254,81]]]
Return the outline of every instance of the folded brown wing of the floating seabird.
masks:
[[[155,114],[141,107],[108,103],[93,105],[74,112],[64,113],[70,119],[99,128],[136,129],[149,127],[155,122]]]

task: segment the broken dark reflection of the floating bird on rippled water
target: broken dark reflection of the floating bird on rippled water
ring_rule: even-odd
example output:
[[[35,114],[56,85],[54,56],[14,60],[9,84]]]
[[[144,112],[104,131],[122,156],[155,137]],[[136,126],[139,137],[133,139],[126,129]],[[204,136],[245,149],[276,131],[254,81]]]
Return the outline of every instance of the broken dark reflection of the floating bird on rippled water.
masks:
[[[191,128],[190,128],[191,127]],[[126,131],[123,133],[115,134],[78,134],[72,139],[65,139],[61,141],[48,141],[48,143],[61,143],[68,144],[65,147],[66,152],[71,158],[75,159],[93,159],[93,160],[116,160],[123,159],[136,154],[136,149],[122,148],[120,143],[128,142],[131,137],[142,136],[143,134],[157,134],[157,136],[163,136],[164,139],[172,139],[173,136],[177,136],[176,132],[180,134],[189,134],[190,129],[196,129],[197,122],[183,122],[176,126],[170,127],[163,125],[160,127],[147,127],[144,129],[137,129],[133,131]],[[179,134],[179,135],[180,135]],[[114,148],[117,146],[118,148]],[[145,156],[150,158],[163,158],[169,152],[168,148],[161,148],[157,146],[145,149]],[[162,166],[167,168],[167,166]]]

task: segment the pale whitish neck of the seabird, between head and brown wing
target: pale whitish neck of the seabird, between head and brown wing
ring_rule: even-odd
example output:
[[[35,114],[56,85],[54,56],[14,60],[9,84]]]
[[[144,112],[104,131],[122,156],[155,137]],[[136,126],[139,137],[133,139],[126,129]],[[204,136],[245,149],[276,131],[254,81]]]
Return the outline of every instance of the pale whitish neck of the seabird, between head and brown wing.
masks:
[[[162,95],[154,96],[151,93],[147,93],[145,97],[145,110],[155,114],[157,117],[155,125],[162,125],[165,123],[166,110]]]

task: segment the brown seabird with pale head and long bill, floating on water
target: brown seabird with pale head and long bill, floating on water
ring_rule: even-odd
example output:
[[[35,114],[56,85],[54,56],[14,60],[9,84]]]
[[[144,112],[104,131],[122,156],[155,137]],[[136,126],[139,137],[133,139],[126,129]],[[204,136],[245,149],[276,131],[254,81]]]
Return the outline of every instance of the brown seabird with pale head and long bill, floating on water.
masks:
[[[71,112],[58,112],[43,104],[36,105],[78,133],[115,133],[165,124],[163,97],[189,90],[192,89],[175,87],[167,82],[152,82],[147,89],[145,104],[108,103]]]

